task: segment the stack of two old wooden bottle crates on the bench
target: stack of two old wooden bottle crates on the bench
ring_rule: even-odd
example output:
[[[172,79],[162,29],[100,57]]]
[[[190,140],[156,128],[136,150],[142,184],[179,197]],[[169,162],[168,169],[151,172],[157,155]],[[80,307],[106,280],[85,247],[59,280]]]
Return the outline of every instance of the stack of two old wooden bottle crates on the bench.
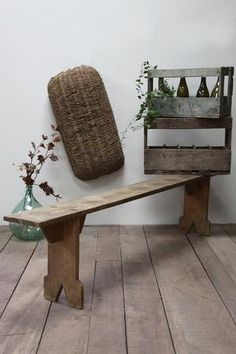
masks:
[[[146,174],[229,174],[231,168],[231,101],[233,67],[195,69],[153,69],[148,74],[148,91],[154,80],[185,77],[219,77],[219,97],[158,98],[160,117],[149,129],[224,129],[224,146],[149,146],[144,128],[144,172]],[[227,96],[224,88],[227,77]]]

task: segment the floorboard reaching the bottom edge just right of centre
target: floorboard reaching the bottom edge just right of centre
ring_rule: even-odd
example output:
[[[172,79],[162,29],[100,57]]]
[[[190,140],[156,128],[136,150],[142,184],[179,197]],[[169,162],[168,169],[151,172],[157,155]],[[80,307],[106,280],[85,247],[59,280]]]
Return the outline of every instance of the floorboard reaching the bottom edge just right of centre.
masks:
[[[123,263],[129,354],[175,353],[150,263]]]

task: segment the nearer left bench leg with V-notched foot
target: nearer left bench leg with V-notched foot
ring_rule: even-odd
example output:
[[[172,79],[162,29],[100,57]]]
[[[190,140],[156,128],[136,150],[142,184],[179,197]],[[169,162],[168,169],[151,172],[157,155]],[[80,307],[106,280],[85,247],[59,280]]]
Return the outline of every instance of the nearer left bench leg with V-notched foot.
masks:
[[[48,275],[44,297],[56,301],[62,288],[71,307],[83,308],[83,285],[79,281],[79,235],[85,217],[44,227],[48,240]]]

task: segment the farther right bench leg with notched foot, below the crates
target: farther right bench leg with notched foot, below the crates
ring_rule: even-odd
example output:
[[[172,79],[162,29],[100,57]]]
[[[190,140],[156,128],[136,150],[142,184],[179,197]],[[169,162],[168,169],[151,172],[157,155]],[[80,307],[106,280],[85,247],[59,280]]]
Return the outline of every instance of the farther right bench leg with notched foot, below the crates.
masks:
[[[184,215],[180,218],[180,229],[188,232],[194,225],[199,235],[210,235],[208,221],[210,177],[191,182],[185,186]]]

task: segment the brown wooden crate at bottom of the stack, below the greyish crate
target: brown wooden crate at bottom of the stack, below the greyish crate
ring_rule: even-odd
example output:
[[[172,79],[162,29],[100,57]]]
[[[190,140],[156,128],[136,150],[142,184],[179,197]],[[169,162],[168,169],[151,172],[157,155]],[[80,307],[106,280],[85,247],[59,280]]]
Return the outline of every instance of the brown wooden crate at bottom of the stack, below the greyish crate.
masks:
[[[225,143],[210,146],[149,146],[144,129],[146,174],[228,174],[231,167],[232,118],[157,118],[151,129],[225,129]]]

